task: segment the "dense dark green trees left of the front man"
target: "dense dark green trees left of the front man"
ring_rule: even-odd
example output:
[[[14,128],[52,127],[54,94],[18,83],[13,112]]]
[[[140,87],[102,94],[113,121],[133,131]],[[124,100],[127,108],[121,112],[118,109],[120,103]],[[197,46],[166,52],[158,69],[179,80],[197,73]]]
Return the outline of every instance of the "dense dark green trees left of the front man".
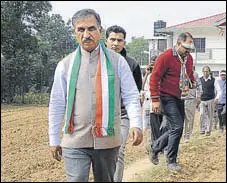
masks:
[[[48,1],[1,1],[1,101],[46,92],[57,63],[75,50],[71,21],[50,10]]]

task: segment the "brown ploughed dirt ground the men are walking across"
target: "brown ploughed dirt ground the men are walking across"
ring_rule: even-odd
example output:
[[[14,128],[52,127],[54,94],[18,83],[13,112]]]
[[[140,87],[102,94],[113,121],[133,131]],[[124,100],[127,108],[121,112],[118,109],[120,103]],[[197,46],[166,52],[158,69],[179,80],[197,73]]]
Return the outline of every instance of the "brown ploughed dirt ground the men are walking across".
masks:
[[[49,152],[47,128],[46,106],[1,106],[1,182],[66,181],[63,161],[53,160]],[[154,173],[153,182],[226,181],[225,134],[216,131],[201,137],[198,130],[197,123],[192,142],[180,144],[179,159],[184,172],[178,175],[165,170],[164,156],[158,166],[149,162],[144,148],[146,135],[137,147],[128,143],[124,181],[135,181],[149,169]]]

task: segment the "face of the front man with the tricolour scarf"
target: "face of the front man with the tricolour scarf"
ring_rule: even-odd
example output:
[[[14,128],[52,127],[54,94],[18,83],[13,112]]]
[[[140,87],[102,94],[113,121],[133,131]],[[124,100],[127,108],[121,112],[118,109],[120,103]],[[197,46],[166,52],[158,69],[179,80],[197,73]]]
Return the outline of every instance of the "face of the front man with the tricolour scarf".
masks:
[[[94,15],[81,18],[75,23],[75,35],[77,41],[86,51],[94,50],[101,37],[102,28],[98,28],[98,23]]]

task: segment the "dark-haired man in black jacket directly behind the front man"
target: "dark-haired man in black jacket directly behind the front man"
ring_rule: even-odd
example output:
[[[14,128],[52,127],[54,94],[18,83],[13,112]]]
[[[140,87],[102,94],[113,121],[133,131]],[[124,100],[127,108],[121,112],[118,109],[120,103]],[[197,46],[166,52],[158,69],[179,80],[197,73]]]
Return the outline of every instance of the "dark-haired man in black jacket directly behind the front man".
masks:
[[[114,50],[115,52],[121,54],[125,57],[128,65],[132,71],[133,77],[135,79],[138,90],[142,89],[142,75],[139,64],[132,57],[126,55],[125,46],[126,32],[125,30],[117,25],[111,26],[106,30],[106,46]],[[115,182],[121,182],[123,178],[124,171],[124,149],[129,133],[129,119],[127,111],[121,102],[121,142],[122,145],[119,149],[118,161],[116,166],[116,171],[114,175]]]

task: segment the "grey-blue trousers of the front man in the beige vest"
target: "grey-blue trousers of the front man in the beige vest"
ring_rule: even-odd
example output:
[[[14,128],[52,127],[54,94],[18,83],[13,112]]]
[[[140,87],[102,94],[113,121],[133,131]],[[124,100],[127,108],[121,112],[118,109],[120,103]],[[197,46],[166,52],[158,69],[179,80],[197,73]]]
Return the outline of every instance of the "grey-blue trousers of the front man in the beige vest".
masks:
[[[119,147],[111,149],[63,147],[67,182],[88,182],[92,164],[95,182],[114,182]]]

